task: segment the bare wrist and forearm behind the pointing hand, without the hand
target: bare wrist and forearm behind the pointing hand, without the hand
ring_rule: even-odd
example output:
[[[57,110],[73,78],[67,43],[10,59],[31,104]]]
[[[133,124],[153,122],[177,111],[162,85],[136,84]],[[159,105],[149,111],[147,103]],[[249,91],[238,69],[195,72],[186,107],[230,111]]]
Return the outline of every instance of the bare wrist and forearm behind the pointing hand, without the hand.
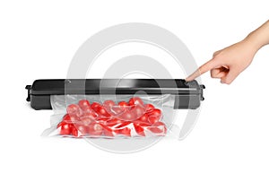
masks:
[[[269,44],[269,20],[249,33],[245,40],[249,41],[256,50]]]

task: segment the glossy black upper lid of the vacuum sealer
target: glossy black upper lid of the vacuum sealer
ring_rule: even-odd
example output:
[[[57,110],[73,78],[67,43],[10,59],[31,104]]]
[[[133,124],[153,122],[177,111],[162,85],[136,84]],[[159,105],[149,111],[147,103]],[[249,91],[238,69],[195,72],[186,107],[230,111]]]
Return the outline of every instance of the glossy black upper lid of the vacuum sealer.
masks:
[[[204,85],[182,79],[54,79],[36,80],[31,95],[61,94],[203,94]],[[202,95],[203,98],[203,95]]]

